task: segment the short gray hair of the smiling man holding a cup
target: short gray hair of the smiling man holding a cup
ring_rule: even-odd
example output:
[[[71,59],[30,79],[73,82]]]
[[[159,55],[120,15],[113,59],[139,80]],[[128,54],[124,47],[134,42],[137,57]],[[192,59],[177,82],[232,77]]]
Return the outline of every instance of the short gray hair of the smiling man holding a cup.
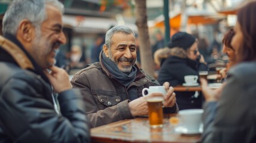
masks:
[[[105,45],[107,46],[107,48],[110,49],[111,47],[111,38],[112,36],[115,34],[115,33],[126,33],[126,34],[133,34],[135,36],[135,33],[128,27],[128,26],[124,26],[124,25],[121,25],[121,26],[115,26],[115,27],[112,27],[112,29],[109,29],[106,33],[106,36],[105,36]]]

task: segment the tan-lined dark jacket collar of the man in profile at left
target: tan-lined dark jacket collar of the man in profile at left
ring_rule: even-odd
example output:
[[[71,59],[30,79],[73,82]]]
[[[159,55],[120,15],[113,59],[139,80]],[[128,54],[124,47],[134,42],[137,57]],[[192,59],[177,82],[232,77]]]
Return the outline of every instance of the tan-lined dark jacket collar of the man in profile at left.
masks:
[[[21,69],[33,71],[50,84],[43,69],[33,60],[18,39],[9,33],[5,33],[4,37],[0,36],[0,61],[13,63]]]

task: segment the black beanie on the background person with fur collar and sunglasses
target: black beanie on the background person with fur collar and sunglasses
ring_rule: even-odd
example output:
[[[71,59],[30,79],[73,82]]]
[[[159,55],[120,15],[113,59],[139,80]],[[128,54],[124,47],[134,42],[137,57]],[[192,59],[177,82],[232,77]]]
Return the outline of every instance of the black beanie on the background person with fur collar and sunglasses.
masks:
[[[193,45],[193,43],[195,43],[195,41],[196,38],[189,33],[177,32],[172,36],[171,41],[168,43],[168,47],[180,47],[187,50],[188,48],[190,48],[190,46]]]

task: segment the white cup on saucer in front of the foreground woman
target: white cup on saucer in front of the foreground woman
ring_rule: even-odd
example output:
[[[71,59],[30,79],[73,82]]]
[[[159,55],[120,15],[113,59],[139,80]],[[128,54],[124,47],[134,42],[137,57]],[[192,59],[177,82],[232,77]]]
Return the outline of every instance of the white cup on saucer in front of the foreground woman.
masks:
[[[203,109],[180,110],[178,116],[188,131],[198,131],[202,124]]]

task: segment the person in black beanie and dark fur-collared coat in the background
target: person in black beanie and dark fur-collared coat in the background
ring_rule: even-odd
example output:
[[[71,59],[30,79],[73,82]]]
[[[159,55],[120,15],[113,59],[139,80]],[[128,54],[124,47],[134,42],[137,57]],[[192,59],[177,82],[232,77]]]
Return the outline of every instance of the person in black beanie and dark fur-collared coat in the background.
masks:
[[[168,47],[169,57],[162,60],[158,81],[169,82],[172,86],[185,83],[184,76],[197,75],[200,70],[208,70],[203,56],[198,51],[197,39],[186,32],[172,36]],[[180,110],[202,108],[203,98],[200,92],[175,92]]]

